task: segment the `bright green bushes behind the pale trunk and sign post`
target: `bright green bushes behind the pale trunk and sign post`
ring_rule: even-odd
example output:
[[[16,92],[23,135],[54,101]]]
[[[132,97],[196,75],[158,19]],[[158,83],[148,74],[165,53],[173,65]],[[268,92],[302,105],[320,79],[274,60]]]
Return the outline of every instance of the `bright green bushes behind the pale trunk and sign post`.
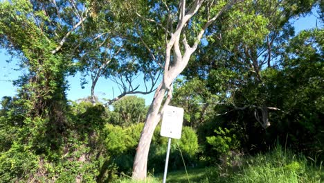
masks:
[[[105,125],[102,133],[105,139],[105,149],[111,155],[111,159],[114,159],[111,163],[116,164],[119,172],[126,173],[127,175],[132,173],[132,163],[143,125],[143,123],[138,123],[124,128],[118,125]],[[161,137],[160,128],[156,128],[150,147],[149,170],[154,170],[155,172],[163,171],[167,143],[168,138]],[[183,127],[181,139],[172,141],[170,162],[173,163],[170,165],[171,169],[183,166],[179,150],[181,150],[187,166],[196,163],[199,144],[197,134],[192,128]]]

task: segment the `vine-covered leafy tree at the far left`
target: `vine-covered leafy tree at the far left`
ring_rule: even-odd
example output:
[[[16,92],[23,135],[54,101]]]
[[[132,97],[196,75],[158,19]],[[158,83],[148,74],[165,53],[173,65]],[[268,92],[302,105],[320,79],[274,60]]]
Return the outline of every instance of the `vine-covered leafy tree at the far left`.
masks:
[[[43,125],[48,125],[46,119],[49,119],[55,124],[53,131],[57,134],[62,133],[65,125],[65,76],[71,71],[71,49],[64,45],[84,21],[84,17],[69,14],[69,10],[75,10],[71,3],[65,7],[60,6],[62,3],[57,3],[58,6],[24,0],[0,3],[1,47],[19,58],[21,69],[27,71],[14,82],[20,87],[17,103],[24,108],[24,119],[44,119]],[[73,40],[69,42],[72,44]],[[33,126],[33,122],[28,124]]]

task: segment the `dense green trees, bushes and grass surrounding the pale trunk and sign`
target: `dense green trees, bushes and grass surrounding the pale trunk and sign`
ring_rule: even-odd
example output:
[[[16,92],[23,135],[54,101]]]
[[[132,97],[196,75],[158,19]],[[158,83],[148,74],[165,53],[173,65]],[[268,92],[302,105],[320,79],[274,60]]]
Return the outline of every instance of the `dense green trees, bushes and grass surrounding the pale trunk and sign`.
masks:
[[[17,95],[1,99],[0,182],[129,182],[154,107],[134,94],[161,88],[164,102],[185,110],[170,182],[324,180],[323,1],[202,4],[179,35],[180,55],[196,46],[188,66],[156,89],[167,71],[167,28],[183,10],[177,2],[0,1],[0,47],[25,73],[13,83]],[[319,26],[295,34],[291,20],[311,10]],[[77,72],[81,85],[91,83],[91,96],[69,101],[66,77]],[[120,94],[98,100],[100,77],[116,82]],[[147,162],[152,182],[161,182],[168,141],[159,131]]]

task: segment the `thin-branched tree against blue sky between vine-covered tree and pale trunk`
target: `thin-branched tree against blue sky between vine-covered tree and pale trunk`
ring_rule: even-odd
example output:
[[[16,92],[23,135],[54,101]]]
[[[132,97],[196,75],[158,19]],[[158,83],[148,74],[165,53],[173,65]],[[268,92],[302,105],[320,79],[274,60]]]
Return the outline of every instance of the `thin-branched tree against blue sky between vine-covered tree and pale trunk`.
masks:
[[[116,82],[120,94],[109,99],[107,105],[111,105],[123,96],[129,94],[150,94],[154,92],[156,80],[155,74],[150,78],[143,77],[145,90],[141,91],[139,85],[134,85],[134,79],[145,70],[140,67],[140,58],[136,57],[132,50],[125,46],[127,37],[120,35],[118,19],[111,15],[110,6],[104,3],[96,3],[96,16],[84,23],[84,36],[78,45],[79,53],[75,59],[79,60],[78,66],[84,78],[81,85],[87,83],[86,76],[91,78],[91,103],[96,104],[95,87],[99,78],[105,78]],[[151,68],[150,68],[151,69]],[[147,87],[147,81],[151,86]]]

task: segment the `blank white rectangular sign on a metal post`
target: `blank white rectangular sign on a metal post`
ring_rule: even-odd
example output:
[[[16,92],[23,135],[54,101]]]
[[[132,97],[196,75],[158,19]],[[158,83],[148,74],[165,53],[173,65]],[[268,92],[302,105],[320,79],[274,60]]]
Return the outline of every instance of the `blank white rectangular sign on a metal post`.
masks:
[[[181,138],[183,108],[165,106],[161,124],[161,136],[173,139]]]

